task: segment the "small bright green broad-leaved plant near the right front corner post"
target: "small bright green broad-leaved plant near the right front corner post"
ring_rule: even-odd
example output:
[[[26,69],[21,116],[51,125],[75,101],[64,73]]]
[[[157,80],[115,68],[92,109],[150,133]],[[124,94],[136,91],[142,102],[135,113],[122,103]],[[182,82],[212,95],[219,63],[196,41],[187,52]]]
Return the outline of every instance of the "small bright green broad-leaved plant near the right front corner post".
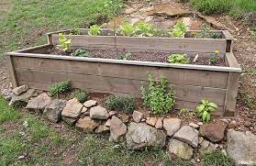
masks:
[[[196,112],[202,118],[203,122],[209,122],[211,120],[211,114],[216,109],[217,105],[215,103],[210,103],[205,99],[201,100],[201,103],[196,106]]]

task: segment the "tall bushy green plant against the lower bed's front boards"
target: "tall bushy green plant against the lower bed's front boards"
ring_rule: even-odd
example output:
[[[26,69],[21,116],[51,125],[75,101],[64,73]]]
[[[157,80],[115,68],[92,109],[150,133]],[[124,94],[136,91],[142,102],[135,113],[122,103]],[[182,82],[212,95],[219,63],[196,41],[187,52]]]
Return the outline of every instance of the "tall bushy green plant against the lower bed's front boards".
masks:
[[[168,80],[161,75],[157,82],[153,75],[148,73],[149,88],[145,84],[140,87],[144,105],[149,106],[154,114],[166,114],[173,109],[175,92],[173,87],[168,87]]]

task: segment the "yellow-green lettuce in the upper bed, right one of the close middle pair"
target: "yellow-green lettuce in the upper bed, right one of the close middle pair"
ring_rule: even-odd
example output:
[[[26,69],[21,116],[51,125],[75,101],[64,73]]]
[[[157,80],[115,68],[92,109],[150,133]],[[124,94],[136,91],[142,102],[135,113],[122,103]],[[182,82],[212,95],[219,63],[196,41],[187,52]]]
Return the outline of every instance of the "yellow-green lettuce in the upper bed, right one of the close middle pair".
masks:
[[[154,28],[145,21],[139,22],[136,29],[139,32],[139,37],[152,37],[154,35]]]

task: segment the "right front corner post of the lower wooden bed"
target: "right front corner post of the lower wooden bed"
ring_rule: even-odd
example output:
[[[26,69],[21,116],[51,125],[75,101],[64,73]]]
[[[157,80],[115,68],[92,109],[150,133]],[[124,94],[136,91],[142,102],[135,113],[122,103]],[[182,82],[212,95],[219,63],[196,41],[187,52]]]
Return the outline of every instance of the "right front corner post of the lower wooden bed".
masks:
[[[225,99],[225,115],[234,116],[236,111],[236,102],[239,90],[239,72],[229,72],[228,88]]]

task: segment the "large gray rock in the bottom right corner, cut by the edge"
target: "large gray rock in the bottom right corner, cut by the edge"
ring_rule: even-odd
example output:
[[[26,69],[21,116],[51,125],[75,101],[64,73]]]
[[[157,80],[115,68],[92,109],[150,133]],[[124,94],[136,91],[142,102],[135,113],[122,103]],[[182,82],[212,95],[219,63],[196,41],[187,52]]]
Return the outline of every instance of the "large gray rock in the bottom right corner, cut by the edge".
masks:
[[[228,155],[236,164],[256,164],[256,136],[250,131],[246,133],[228,130]]]

